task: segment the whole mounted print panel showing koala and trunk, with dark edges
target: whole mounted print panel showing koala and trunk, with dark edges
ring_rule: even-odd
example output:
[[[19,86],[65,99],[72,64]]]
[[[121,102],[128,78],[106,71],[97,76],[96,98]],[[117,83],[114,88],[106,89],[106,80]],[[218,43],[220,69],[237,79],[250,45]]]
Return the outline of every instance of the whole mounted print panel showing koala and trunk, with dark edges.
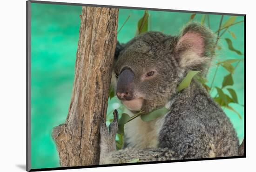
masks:
[[[27,171],[244,158],[244,39],[244,14],[27,1]]]

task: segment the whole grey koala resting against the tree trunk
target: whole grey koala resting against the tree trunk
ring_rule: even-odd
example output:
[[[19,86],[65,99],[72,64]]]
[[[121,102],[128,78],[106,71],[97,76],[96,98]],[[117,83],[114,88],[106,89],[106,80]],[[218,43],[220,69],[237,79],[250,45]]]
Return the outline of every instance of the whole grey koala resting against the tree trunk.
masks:
[[[199,23],[190,23],[177,36],[161,32],[137,35],[117,43],[112,77],[116,95],[134,114],[163,106],[171,110],[149,122],[136,118],[125,124],[125,144],[116,150],[118,114],[100,127],[100,164],[239,155],[235,129],[222,108],[193,79],[177,92],[190,70],[206,77],[215,57],[215,35]],[[116,79],[115,79],[116,78]]]

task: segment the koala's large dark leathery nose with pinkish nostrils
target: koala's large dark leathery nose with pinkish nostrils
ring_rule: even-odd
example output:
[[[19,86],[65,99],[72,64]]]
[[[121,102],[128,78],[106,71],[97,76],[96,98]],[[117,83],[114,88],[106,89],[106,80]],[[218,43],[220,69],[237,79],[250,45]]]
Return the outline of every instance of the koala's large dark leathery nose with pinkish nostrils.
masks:
[[[121,71],[117,80],[116,95],[120,100],[133,99],[134,73],[127,68]]]

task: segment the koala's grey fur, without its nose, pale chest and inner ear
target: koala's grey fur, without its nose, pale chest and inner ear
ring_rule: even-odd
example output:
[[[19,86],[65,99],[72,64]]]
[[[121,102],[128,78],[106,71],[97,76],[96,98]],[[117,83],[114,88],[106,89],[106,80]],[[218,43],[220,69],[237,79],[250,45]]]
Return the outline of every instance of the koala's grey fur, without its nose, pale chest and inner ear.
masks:
[[[186,58],[182,57],[182,52],[189,51],[193,45],[177,47],[177,43],[188,32],[201,35],[203,54],[186,66],[181,66],[182,58]],[[118,45],[115,73],[119,74],[124,66],[135,73],[133,84],[136,93],[143,95],[142,109],[151,112],[164,106],[174,96],[175,102],[173,109],[165,115],[156,148],[127,147],[116,151],[112,146],[108,153],[101,156],[104,159],[101,164],[126,163],[133,159],[145,162],[238,156],[236,131],[209,93],[195,80],[180,93],[176,91],[189,70],[202,70],[203,76],[207,74],[210,61],[214,58],[214,40],[214,34],[207,28],[191,23],[178,36],[147,32]],[[141,82],[143,73],[152,69],[157,71],[156,76]],[[104,132],[101,132],[101,138],[101,145],[104,140],[113,142],[113,137],[108,137]]]

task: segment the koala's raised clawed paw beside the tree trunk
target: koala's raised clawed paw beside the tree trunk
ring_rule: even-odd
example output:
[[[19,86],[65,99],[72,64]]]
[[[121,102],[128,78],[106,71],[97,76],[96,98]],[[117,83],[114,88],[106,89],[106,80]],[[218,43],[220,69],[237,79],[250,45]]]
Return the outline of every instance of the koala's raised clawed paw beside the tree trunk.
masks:
[[[115,110],[113,112],[114,120],[108,127],[105,122],[101,123],[100,134],[101,134],[101,150],[105,152],[111,152],[115,150],[115,135],[118,130],[118,112]]]

